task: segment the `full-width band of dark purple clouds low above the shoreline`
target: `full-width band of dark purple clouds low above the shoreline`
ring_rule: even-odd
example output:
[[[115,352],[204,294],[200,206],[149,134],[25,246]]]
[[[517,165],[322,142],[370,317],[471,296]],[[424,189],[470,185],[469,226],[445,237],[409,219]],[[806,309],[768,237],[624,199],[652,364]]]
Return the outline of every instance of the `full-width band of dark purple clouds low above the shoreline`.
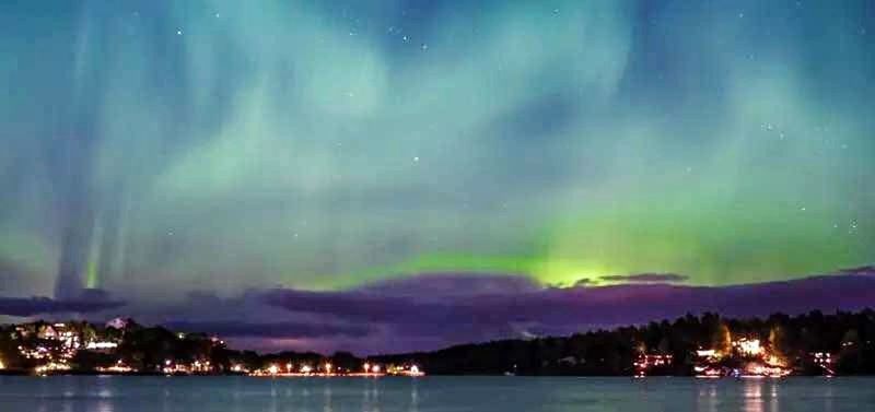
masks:
[[[359,353],[431,350],[501,338],[570,334],[643,323],[687,313],[750,317],[777,311],[854,310],[875,305],[872,267],[800,280],[732,286],[678,284],[675,274],[602,278],[628,282],[547,287],[514,275],[423,274],[342,292],[248,291],[220,298],[191,294],[182,306],[145,321],[199,330],[261,349],[352,350]],[[3,298],[0,311],[36,314],[118,311],[120,302],[94,292],[77,301]],[[124,309],[121,309],[124,310]],[[140,309],[138,309],[140,310]],[[167,313],[173,320],[167,319]],[[150,316],[151,319],[150,319]],[[164,319],[164,320],[162,320]]]

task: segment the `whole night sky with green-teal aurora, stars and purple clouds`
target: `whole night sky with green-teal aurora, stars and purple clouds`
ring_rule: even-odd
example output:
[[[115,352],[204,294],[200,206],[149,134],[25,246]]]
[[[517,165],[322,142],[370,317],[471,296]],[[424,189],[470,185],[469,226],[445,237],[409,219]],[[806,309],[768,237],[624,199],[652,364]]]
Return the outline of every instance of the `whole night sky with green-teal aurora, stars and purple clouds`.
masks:
[[[5,1],[0,86],[0,320],[370,353],[875,303],[871,0]]]

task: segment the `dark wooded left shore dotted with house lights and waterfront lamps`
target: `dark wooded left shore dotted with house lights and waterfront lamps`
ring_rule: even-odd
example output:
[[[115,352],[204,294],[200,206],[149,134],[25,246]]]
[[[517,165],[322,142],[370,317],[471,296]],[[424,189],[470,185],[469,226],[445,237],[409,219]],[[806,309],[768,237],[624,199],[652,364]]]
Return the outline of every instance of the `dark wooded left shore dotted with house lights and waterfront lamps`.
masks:
[[[284,352],[258,355],[229,350],[218,337],[144,328],[130,319],[104,326],[36,321],[4,327],[0,372],[67,375],[423,376],[416,364],[380,364],[350,353]]]

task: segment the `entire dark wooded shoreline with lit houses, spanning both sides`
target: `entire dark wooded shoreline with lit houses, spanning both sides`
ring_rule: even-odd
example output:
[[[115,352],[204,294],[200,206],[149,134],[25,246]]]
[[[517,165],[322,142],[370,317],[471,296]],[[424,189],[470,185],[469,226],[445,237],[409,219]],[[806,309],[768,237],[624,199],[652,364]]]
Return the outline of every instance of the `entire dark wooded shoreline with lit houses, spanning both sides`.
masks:
[[[690,316],[565,338],[504,340],[435,352],[357,357],[349,352],[258,354],[215,336],[144,327],[35,321],[0,327],[0,373],[58,375],[656,375],[782,378],[870,374],[875,311],[769,320]]]

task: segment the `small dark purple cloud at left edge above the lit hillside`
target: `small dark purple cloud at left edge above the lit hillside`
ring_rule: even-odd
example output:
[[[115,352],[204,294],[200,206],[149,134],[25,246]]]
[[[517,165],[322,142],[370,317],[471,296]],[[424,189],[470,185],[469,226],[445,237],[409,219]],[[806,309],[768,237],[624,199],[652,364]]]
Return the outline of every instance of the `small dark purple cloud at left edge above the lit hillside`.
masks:
[[[27,317],[52,314],[92,314],[125,306],[100,290],[85,290],[72,299],[48,297],[0,297],[0,315]]]

